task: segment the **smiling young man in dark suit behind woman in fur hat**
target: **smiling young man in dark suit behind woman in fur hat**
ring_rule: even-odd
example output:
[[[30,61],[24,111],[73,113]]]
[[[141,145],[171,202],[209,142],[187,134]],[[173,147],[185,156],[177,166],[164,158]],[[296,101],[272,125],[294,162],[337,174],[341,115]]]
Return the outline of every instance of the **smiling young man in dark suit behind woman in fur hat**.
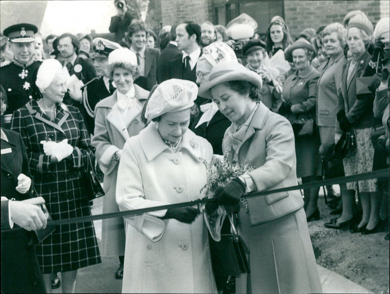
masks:
[[[130,50],[137,55],[137,62],[139,66],[140,77],[139,80],[143,79],[142,84],[135,84],[141,86],[145,90],[150,91],[156,84],[157,80],[157,61],[160,55],[160,51],[154,48],[146,47],[146,26],[141,20],[133,21],[128,29],[129,41],[131,41]],[[142,78],[142,77],[146,77]]]

